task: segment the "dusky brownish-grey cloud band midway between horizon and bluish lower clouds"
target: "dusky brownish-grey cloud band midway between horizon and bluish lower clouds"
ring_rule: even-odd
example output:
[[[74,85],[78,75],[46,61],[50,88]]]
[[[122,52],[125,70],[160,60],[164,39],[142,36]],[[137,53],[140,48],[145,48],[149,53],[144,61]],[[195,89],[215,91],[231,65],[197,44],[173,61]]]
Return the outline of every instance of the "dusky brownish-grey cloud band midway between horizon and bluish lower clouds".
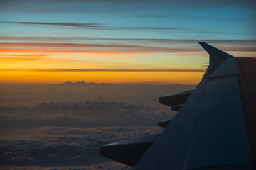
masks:
[[[50,102],[32,108],[2,106],[0,127],[155,125],[166,118],[166,114],[144,104],[122,101]]]

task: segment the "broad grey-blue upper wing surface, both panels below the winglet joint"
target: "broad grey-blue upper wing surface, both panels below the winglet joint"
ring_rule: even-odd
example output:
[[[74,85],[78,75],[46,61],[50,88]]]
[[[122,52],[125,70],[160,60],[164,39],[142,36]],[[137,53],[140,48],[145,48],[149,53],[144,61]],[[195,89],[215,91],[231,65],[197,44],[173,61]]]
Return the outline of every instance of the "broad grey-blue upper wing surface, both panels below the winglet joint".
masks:
[[[237,77],[202,80],[134,169],[252,162]]]

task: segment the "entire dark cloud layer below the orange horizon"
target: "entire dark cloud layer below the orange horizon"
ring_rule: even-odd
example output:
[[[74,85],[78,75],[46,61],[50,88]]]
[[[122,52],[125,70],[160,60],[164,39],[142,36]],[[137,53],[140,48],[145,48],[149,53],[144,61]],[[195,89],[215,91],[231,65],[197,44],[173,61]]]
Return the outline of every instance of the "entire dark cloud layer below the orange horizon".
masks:
[[[160,133],[156,123],[175,112],[151,99],[194,87],[83,81],[0,85],[1,169],[128,170],[101,157],[98,147]]]

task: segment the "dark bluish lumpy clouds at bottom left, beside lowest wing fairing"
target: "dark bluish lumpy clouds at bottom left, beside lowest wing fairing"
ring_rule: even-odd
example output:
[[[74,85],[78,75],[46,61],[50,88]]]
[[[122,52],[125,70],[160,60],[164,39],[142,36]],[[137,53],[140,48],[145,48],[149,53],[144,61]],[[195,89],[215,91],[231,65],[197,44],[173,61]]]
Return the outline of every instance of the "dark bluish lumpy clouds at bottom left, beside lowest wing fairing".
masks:
[[[4,148],[0,149],[0,166],[92,166],[107,169],[103,164],[110,159],[100,156],[100,145],[159,132],[161,128],[156,127],[36,128],[28,132],[31,136],[26,140],[0,141],[0,147]],[[109,168],[115,167],[108,164]]]

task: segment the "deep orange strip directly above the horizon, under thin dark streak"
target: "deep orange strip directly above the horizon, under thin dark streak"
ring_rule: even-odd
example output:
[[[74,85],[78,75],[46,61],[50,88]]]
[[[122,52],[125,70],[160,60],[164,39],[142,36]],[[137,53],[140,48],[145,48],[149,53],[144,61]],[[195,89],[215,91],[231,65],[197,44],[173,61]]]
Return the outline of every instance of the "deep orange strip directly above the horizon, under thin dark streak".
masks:
[[[95,83],[198,84],[203,72],[35,72],[2,71],[1,84]]]

